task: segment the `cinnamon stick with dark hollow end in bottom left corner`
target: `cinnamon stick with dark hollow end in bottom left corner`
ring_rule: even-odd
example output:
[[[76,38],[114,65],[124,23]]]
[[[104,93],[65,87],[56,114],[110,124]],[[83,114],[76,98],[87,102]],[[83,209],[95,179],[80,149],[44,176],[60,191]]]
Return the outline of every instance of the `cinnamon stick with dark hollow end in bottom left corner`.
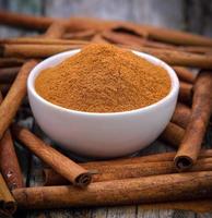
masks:
[[[14,214],[16,210],[16,203],[10,193],[3,177],[0,173],[0,208],[7,214]]]

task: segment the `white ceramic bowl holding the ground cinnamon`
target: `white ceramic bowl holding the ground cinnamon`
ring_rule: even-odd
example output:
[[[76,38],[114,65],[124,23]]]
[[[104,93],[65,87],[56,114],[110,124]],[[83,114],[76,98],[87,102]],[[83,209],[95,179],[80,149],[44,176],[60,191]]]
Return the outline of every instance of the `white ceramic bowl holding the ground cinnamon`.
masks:
[[[30,105],[42,130],[63,148],[83,156],[111,158],[150,145],[165,129],[175,110],[179,81],[170,66],[146,53],[133,51],[163,66],[172,80],[169,94],[158,102],[126,112],[94,113],[66,109],[45,100],[34,82],[42,70],[54,66],[80,50],[52,56],[31,72],[27,81]]]

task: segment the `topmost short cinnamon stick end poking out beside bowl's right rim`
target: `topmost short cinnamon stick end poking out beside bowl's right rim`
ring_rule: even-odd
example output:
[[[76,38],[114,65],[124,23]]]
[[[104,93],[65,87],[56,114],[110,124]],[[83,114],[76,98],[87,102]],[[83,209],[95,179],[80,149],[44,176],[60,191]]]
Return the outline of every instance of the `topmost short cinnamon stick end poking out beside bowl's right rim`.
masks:
[[[193,83],[196,80],[196,75],[190,72],[188,69],[182,68],[182,66],[173,66],[175,72],[177,73],[177,76],[179,80],[187,82],[187,83]]]

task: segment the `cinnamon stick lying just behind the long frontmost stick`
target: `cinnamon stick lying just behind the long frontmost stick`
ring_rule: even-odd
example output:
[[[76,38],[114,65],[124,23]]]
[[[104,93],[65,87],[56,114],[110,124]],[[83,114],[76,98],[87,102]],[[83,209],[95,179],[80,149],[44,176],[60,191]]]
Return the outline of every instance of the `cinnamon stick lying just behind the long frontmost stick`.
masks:
[[[210,154],[211,153],[211,154]],[[126,158],[118,160],[97,161],[81,164],[87,170],[97,170],[98,174],[93,175],[93,182],[109,181],[127,178],[139,178],[156,174],[177,172],[173,158],[176,153],[149,155],[143,157]],[[208,171],[212,169],[212,152],[207,150],[200,156],[197,165],[190,171]],[[45,185],[70,184],[68,180],[51,169],[44,170]]]

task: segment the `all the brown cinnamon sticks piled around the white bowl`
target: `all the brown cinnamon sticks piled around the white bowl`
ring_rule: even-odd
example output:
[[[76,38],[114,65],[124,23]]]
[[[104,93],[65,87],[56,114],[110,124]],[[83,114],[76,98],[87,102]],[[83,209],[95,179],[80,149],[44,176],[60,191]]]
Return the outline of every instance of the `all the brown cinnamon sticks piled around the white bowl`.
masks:
[[[12,214],[16,205],[39,209],[212,201],[212,149],[202,147],[212,110],[212,39],[130,22],[35,17],[2,11],[0,24],[44,31],[36,37],[0,39],[1,210]],[[180,80],[178,104],[158,140],[176,152],[79,164],[13,122],[26,97],[28,73],[37,62],[90,43],[140,50],[174,68]],[[25,186],[14,141],[48,166],[42,169],[44,186]]]

